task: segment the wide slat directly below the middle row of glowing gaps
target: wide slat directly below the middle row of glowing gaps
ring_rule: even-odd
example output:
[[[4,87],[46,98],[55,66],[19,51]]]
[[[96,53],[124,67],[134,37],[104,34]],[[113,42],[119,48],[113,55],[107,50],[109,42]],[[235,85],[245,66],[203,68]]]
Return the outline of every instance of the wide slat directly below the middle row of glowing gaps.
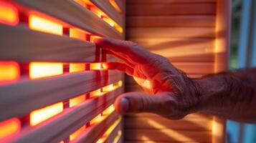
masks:
[[[123,74],[118,71],[108,72],[108,79],[105,78],[104,71],[83,71],[0,86],[0,94],[8,95],[0,96],[0,120],[21,117],[34,109],[91,92],[123,79]]]

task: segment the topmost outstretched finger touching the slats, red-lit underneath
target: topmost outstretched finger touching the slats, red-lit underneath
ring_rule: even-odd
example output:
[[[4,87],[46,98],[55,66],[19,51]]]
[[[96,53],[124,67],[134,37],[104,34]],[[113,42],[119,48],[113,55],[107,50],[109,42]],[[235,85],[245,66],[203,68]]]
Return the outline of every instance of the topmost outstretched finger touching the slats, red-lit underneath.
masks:
[[[147,51],[146,49],[143,49],[141,46],[138,46],[137,44],[131,42],[131,41],[122,41],[122,40],[116,40],[116,39],[95,39],[95,44],[97,44],[99,47],[115,51],[120,56],[122,54],[128,56],[128,59],[131,59],[132,61],[135,61],[136,63],[144,63],[150,59],[149,56],[152,56],[152,54]]]

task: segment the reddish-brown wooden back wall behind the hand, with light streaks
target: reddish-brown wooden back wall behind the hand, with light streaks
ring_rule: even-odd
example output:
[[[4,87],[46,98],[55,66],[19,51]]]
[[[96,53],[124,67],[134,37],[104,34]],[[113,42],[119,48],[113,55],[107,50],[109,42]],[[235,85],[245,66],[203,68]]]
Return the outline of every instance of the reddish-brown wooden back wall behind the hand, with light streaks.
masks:
[[[166,56],[191,78],[227,69],[230,1],[128,0],[126,39]],[[126,77],[126,92],[143,92]],[[224,142],[225,122],[206,114],[179,121],[125,116],[125,142]]]

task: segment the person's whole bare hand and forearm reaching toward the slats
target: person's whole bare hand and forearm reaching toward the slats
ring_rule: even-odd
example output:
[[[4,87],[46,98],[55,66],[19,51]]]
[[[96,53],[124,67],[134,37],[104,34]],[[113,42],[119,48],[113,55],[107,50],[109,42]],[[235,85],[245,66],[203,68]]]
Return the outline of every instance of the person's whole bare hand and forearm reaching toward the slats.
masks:
[[[204,112],[240,122],[256,122],[256,69],[190,79],[168,59],[131,41],[95,39],[108,54],[123,62],[110,62],[136,79],[146,93],[128,92],[115,100],[120,114],[152,112],[169,119]]]

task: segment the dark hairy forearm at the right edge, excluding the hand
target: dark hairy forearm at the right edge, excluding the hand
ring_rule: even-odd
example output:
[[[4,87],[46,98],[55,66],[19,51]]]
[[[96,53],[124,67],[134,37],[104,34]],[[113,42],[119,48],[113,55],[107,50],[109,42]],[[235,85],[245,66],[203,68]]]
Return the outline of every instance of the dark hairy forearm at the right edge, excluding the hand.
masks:
[[[195,82],[199,112],[256,122],[256,69],[210,75]]]

